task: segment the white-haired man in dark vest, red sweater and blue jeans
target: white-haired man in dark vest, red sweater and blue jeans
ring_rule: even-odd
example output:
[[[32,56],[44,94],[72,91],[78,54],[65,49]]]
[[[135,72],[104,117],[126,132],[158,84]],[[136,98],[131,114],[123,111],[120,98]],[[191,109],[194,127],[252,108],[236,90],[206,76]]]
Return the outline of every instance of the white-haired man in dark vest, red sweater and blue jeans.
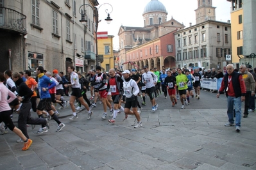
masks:
[[[244,79],[241,73],[234,72],[234,65],[229,64],[226,66],[226,74],[224,75],[221,87],[219,88],[218,94],[226,93],[228,100],[228,123],[225,127],[231,127],[235,125],[235,130],[240,132],[241,128],[241,105],[245,100],[246,88]],[[234,107],[235,107],[235,122],[234,122]]]

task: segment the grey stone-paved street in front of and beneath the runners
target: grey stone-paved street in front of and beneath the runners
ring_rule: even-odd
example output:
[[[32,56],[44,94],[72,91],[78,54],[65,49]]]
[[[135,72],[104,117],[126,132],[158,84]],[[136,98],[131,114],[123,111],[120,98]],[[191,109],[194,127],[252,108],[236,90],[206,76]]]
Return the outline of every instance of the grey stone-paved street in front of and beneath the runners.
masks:
[[[225,95],[216,98],[216,93],[201,91],[200,100],[191,98],[185,109],[180,109],[180,101],[171,107],[163,95],[157,98],[155,112],[148,97],[146,103],[141,128],[133,128],[135,116],[124,120],[123,112],[114,125],[101,120],[102,104],[92,109],[91,120],[87,111],[70,121],[70,107],[59,110],[62,131],[55,132],[54,120],[44,134],[35,134],[38,125],[28,127],[33,144],[27,151],[8,130],[0,137],[0,169],[256,169],[255,112],[242,118],[237,133],[235,127],[224,126]]]

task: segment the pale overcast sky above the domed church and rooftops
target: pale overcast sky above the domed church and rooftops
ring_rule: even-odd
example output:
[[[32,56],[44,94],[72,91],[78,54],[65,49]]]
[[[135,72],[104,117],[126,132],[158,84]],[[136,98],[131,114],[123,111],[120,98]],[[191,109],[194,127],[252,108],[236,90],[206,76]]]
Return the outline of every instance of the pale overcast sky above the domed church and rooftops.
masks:
[[[119,38],[118,31],[121,25],[123,26],[137,26],[143,27],[144,20],[142,13],[144,12],[144,7],[151,0],[98,0],[99,6],[99,22],[98,31],[108,31],[108,35],[114,35],[114,50],[119,49]],[[158,0],[164,6],[168,12],[167,20],[173,19],[180,23],[183,23],[185,27],[189,27],[189,22],[192,25],[196,24],[196,13],[194,10],[198,8],[197,0]],[[113,19],[110,24],[107,24],[105,19],[107,18],[107,13],[111,11],[111,6],[113,7],[110,17]],[[216,7],[216,20],[227,22],[230,20],[230,2],[226,0],[212,0],[212,6]]]

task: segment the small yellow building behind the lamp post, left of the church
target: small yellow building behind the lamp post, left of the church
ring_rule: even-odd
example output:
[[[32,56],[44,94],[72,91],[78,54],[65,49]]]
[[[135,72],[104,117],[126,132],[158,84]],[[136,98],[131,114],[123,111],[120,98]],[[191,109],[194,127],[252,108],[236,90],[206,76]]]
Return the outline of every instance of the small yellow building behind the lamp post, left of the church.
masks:
[[[103,55],[103,62],[101,63],[103,72],[108,72],[110,68],[114,68],[113,38],[114,36],[108,35],[108,38],[98,39],[98,54]]]

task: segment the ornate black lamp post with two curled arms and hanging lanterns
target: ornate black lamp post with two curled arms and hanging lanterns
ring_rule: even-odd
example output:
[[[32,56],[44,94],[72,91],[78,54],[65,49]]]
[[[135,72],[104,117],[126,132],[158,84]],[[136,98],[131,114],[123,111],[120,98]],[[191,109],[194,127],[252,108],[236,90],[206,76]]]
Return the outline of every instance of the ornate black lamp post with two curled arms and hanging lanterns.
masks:
[[[110,24],[111,22],[111,18],[110,18],[110,13],[112,13],[113,11],[113,7],[111,4],[109,3],[104,3],[101,4],[101,6],[108,4],[111,7],[111,11],[108,12],[108,9],[105,10],[105,12],[107,13],[107,18],[105,19],[107,21],[107,24]],[[86,10],[85,10],[85,6],[90,6],[90,4],[85,4],[85,0],[83,0],[83,4],[80,6],[79,8],[79,13],[81,14],[81,19],[79,20],[81,22],[81,24],[87,24],[87,15],[86,15]],[[101,6],[99,6],[99,8],[101,8]],[[83,10],[81,10],[81,8],[83,7]],[[95,21],[95,33],[96,33],[96,66],[98,65],[98,38],[97,38],[97,32],[98,32],[98,24],[101,20],[99,20],[99,13],[98,10],[99,8],[97,8],[97,6],[90,6],[90,8],[92,8],[93,12],[94,12],[94,21]]]

